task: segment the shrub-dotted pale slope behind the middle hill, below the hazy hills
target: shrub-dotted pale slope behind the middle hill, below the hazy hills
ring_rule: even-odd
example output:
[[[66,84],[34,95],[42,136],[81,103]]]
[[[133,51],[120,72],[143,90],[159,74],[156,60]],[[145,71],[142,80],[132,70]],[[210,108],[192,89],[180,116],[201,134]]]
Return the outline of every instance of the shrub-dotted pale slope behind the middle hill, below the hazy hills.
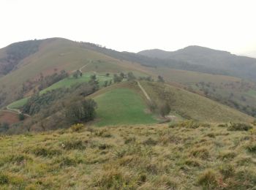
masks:
[[[152,75],[161,75],[167,83],[182,84],[183,88],[189,91],[203,94],[249,115],[256,115],[256,96],[252,95],[256,90],[256,84],[252,81],[227,75],[211,75],[160,66],[148,71],[154,73]]]

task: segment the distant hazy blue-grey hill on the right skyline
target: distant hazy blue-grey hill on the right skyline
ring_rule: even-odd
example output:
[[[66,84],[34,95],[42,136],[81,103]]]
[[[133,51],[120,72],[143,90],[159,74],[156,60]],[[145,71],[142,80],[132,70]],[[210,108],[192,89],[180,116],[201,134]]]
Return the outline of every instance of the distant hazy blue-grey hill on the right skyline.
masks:
[[[227,51],[213,50],[207,47],[189,46],[168,52],[164,50],[143,50],[138,54],[151,58],[172,59],[188,64],[222,69],[229,75],[256,80],[256,58],[236,56]]]

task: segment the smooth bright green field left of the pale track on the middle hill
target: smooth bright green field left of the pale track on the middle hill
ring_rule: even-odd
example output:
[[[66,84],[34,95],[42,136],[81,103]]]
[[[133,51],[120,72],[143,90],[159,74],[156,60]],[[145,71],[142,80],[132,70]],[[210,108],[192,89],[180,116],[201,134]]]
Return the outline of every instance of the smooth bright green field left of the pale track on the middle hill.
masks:
[[[146,104],[140,95],[128,88],[116,88],[96,96],[97,126],[118,124],[157,123],[146,113]]]

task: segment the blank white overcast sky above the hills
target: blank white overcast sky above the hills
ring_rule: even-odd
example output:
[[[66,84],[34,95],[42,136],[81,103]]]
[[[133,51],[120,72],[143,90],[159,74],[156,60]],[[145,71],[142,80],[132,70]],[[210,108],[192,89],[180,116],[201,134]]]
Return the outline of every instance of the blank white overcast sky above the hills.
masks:
[[[0,8],[0,47],[64,37],[131,52],[201,45],[256,57],[255,0],[0,0]]]

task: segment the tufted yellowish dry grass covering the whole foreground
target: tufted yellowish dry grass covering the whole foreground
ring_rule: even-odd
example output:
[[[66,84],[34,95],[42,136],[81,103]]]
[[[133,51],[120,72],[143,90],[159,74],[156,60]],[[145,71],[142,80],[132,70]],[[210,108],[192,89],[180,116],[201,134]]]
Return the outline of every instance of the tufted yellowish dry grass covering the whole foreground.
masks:
[[[253,189],[256,132],[184,121],[0,137],[0,189]]]

